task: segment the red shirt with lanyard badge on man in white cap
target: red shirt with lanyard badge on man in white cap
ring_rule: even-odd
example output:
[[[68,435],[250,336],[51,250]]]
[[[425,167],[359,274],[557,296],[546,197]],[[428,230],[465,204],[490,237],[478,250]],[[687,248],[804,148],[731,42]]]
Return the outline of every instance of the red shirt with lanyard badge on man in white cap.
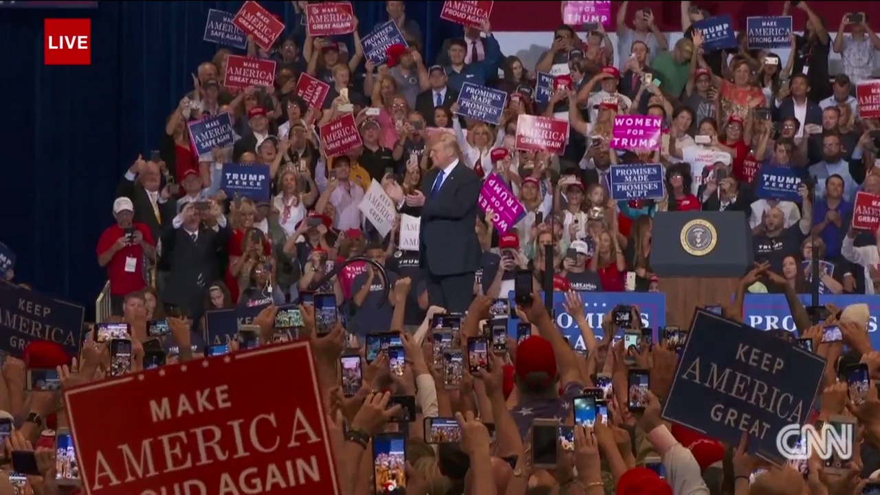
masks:
[[[145,224],[132,224],[143,234],[143,240],[150,246],[155,246],[156,241],[150,234],[150,227]],[[98,240],[98,255],[106,253],[116,240],[125,235],[125,231],[119,225],[111,225],[101,234]],[[128,262],[128,258],[132,258],[133,262]],[[129,271],[126,271],[126,264],[129,265]],[[134,266],[131,266],[134,265]],[[113,258],[106,264],[107,280],[110,281],[110,293],[114,296],[124,296],[130,292],[140,291],[147,286],[146,277],[143,273],[143,247],[140,245],[132,245],[122,247]]]

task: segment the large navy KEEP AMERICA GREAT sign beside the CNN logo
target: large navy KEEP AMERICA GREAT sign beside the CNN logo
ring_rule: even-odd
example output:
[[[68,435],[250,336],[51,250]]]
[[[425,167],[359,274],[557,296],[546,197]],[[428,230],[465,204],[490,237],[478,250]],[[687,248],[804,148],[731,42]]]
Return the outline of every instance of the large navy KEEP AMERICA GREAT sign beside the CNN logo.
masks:
[[[824,358],[697,309],[663,417],[734,445],[746,432],[751,454],[782,463],[777,434],[803,425],[824,373]]]

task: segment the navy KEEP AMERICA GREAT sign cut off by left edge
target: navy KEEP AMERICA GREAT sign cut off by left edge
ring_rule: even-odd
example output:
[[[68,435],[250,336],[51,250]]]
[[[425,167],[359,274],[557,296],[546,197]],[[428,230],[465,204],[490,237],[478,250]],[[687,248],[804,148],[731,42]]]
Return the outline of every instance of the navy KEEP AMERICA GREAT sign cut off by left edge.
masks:
[[[4,284],[0,291],[0,351],[21,358],[27,344],[48,340],[62,344],[71,355],[83,341],[85,308],[17,285]]]

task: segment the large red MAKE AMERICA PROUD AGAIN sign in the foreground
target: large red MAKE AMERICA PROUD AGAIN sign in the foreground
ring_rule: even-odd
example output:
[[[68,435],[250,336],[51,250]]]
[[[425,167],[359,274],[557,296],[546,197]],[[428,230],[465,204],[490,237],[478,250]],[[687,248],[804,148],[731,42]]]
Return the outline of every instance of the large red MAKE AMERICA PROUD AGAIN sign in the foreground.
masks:
[[[278,373],[296,393],[253,386]],[[86,495],[341,493],[306,342],[88,383],[64,403]]]

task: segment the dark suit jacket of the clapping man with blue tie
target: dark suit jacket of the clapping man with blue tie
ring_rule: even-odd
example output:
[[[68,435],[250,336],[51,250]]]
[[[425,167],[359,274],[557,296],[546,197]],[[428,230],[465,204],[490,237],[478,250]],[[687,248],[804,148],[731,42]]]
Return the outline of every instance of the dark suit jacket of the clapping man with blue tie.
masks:
[[[480,270],[482,248],[473,227],[480,214],[477,200],[483,183],[473,170],[459,162],[436,197],[431,197],[439,173],[438,168],[432,168],[422,179],[425,204],[421,211],[406,207],[401,210],[422,217],[419,264],[440,277],[475,272]]]

